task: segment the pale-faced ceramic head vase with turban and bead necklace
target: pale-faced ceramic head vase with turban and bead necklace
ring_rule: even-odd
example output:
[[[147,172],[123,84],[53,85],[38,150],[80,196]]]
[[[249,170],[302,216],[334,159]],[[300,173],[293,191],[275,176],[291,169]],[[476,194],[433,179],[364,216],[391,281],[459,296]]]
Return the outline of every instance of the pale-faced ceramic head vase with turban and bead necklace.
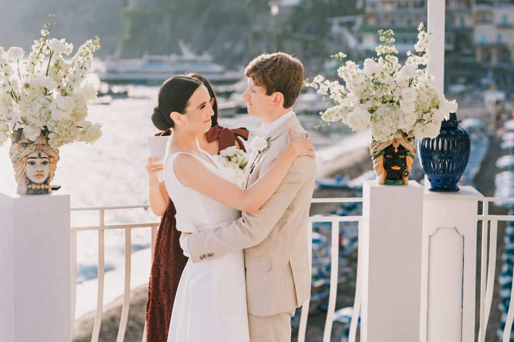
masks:
[[[19,142],[12,143],[9,157],[18,184],[17,193],[39,195],[52,192],[50,182],[56,174],[59,150],[51,148],[44,135],[34,142],[22,135]]]

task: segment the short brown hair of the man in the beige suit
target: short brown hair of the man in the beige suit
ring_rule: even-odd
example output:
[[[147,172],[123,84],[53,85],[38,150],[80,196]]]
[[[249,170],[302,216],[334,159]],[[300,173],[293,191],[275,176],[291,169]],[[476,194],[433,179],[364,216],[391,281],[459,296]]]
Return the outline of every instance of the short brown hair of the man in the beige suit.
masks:
[[[284,52],[263,53],[248,64],[245,76],[256,86],[264,87],[266,95],[281,92],[284,108],[289,108],[303,86],[303,65],[299,59]]]

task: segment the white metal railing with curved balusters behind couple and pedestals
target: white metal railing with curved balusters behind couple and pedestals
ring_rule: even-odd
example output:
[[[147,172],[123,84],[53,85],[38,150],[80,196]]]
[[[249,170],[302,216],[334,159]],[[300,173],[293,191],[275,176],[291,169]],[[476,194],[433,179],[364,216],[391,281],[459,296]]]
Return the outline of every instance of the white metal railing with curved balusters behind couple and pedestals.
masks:
[[[362,198],[314,198],[313,204],[317,203],[361,203]],[[488,325],[489,315],[491,312],[492,296],[495,284],[495,262],[497,253],[497,236],[498,236],[498,222],[514,222],[514,215],[493,215],[489,214],[489,204],[491,203],[514,203],[514,198],[494,198],[486,197],[482,205],[482,213],[478,214],[479,223],[482,228],[482,253],[481,253],[481,289],[480,289],[480,329],[479,329],[479,342],[485,342],[486,329]],[[151,249],[154,250],[155,236],[158,222],[143,222],[132,224],[105,224],[105,211],[117,209],[136,209],[136,208],[149,208],[148,205],[131,205],[131,206],[108,206],[108,207],[88,207],[88,208],[73,208],[71,211],[97,211],[99,214],[99,225],[72,227],[71,228],[71,283],[72,283],[72,327],[75,323],[75,306],[76,306],[76,293],[77,293],[77,232],[79,231],[97,231],[98,232],[98,292],[97,292],[97,306],[95,323],[93,326],[93,334],[91,341],[98,341],[100,333],[100,325],[103,311],[103,289],[104,289],[104,231],[111,229],[123,229],[125,231],[125,270],[124,270],[124,291],[123,291],[123,305],[120,325],[118,328],[117,342],[122,342],[127,325],[128,309],[130,307],[130,277],[131,277],[131,231],[134,228],[150,228],[151,229]],[[331,274],[329,283],[329,296],[328,296],[328,312],[325,320],[325,327],[323,333],[323,342],[328,342],[331,338],[332,325],[335,314],[337,285],[338,285],[338,257],[339,257],[339,225],[340,223],[357,222],[358,223],[358,254],[357,254],[357,279],[356,291],[354,298],[354,307],[352,319],[350,324],[349,340],[355,342],[358,318],[361,308],[362,294],[360,293],[361,285],[361,227],[362,216],[311,216],[308,221],[308,234],[309,234],[309,262],[312,267],[312,232],[313,223],[315,222],[329,222],[331,226]],[[152,253],[153,256],[153,253]],[[513,283],[514,284],[514,283]],[[514,286],[513,286],[514,287]],[[510,303],[514,303],[514,291],[511,292]],[[307,327],[309,311],[309,300],[307,300],[303,307],[300,316],[300,325],[298,331],[298,341],[305,341],[305,333]],[[507,342],[510,339],[510,333],[514,322],[514,305],[509,306],[505,330],[503,333],[503,341]],[[143,332],[143,341],[145,340],[145,331]]]

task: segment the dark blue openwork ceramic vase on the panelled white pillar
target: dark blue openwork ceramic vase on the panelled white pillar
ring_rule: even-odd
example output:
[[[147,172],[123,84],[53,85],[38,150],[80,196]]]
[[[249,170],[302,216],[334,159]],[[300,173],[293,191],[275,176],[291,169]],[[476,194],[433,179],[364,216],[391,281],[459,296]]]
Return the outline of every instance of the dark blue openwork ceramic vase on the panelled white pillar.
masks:
[[[434,139],[418,143],[419,160],[428,176],[430,191],[458,191],[457,182],[468,165],[471,142],[469,135],[458,126],[457,115],[450,114]]]

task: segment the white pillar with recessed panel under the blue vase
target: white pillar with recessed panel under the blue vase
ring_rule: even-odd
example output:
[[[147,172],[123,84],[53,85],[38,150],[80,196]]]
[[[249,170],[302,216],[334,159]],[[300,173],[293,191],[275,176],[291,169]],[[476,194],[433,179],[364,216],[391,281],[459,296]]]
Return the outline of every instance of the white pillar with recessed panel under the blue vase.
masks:
[[[425,194],[421,342],[474,341],[477,210],[483,199],[468,186]]]

